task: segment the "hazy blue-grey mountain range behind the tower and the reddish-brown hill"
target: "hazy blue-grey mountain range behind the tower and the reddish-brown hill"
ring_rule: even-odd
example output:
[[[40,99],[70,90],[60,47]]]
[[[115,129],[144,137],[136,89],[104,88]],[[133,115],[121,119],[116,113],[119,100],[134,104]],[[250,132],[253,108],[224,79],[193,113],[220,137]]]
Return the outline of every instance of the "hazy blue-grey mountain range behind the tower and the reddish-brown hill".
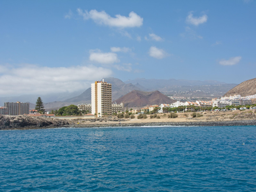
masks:
[[[112,100],[124,96],[125,94],[133,91],[160,91],[164,94],[186,94],[190,96],[194,93],[202,93],[201,95],[223,95],[225,92],[236,86],[237,84],[226,84],[219,81],[196,81],[196,80],[184,80],[184,79],[145,79],[137,78],[134,80],[121,81],[114,77],[105,77],[104,81],[112,84]],[[93,82],[92,82],[93,83]],[[197,92],[197,90],[201,90]],[[205,94],[204,94],[205,92]],[[36,102],[37,97],[41,97],[45,109],[56,109],[70,104],[82,104],[91,103],[91,88],[87,88],[77,92],[62,92],[53,93],[47,95],[21,95],[17,97],[0,97],[0,106],[4,105],[4,102],[30,102],[31,109],[34,107],[33,103]]]

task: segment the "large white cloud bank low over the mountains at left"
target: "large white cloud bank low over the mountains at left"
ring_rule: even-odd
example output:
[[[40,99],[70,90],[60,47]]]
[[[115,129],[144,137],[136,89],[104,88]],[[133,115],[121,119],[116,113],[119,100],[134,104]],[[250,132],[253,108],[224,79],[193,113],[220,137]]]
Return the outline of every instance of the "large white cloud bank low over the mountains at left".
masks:
[[[90,87],[95,79],[111,76],[107,68],[89,66],[73,67],[40,67],[22,64],[13,67],[8,64],[0,68],[8,68],[0,74],[0,94],[14,96],[22,94],[47,94],[73,92]]]

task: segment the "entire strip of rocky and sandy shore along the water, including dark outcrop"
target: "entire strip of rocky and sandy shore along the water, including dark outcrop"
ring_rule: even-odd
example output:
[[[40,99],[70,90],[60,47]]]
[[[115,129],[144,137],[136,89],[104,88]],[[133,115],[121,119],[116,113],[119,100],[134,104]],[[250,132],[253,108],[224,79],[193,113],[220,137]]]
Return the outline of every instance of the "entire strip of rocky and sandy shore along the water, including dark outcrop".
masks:
[[[95,119],[93,119],[95,121]],[[45,117],[31,117],[31,116],[7,116],[0,115],[0,130],[22,130],[22,129],[48,129],[58,127],[140,127],[140,126],[243,126],[256,125],[255,119],[246,120],[232,120],[232,121],[181,121],[181,122],[129,122],[129,120],[120,119],[120,122],[108,123],[78,123],[77,119],[63,120]],[[85,121],[83,121],[85,122]],[[90,120],[89,120],[90,122]]]

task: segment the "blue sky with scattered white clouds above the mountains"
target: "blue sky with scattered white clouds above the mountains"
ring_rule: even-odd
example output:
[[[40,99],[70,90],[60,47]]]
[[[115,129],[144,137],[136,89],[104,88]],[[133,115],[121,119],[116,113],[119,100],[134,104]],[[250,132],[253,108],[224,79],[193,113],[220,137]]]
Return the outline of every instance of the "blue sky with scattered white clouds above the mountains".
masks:
[[[256,2],[1,1],[0,96],[102,77],[255,78]]]

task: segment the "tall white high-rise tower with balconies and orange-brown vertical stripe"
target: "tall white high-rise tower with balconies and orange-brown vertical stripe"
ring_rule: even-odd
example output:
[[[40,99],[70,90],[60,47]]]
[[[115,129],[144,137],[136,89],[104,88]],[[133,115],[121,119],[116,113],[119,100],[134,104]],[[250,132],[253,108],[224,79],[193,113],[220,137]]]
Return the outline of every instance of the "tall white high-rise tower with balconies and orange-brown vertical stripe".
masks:
[[[92,83],[92,114],[112,115],[112,85],[104,79]]]

